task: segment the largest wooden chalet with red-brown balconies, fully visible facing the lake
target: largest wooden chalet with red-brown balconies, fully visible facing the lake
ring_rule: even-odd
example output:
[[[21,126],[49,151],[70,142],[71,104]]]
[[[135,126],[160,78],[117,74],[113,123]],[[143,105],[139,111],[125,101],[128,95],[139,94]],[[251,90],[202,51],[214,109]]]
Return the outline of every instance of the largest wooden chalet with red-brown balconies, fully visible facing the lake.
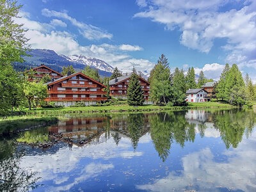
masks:
[[[56,80],[52,79],[45,84],[48,86],[49,93],[49,97],[45,100],[53,101],[58,106],[73,106],[76,102],[83,102],[88,106],[107,100],[104,97],[106,86],[81,72]]]

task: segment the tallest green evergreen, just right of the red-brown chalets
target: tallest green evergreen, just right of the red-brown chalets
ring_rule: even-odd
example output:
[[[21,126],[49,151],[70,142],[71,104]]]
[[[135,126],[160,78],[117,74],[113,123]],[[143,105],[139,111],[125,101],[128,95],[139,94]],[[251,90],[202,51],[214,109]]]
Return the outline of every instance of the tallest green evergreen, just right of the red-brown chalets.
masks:
[[[150,80],[150,97],[157,104],[167,104],[173,99],[172,76],[167,58],[164,54],[157,61]]]

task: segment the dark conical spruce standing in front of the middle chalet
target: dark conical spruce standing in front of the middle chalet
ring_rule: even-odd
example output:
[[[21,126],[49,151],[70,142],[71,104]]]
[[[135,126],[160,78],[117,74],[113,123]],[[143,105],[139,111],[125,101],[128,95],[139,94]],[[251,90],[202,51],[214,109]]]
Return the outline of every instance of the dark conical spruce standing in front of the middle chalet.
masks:
[[[133,70],[129,79],[129,85],[127,89],[127,102],[130,106],[142,106],[144,102],[144,92],[141,89],[140,78]]]

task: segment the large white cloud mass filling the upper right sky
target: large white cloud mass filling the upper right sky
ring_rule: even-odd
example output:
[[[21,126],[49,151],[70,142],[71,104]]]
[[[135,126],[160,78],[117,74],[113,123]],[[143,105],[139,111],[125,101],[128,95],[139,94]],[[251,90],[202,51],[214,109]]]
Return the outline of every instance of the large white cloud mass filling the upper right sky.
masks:
[[[134,17],[149,18],[164,24],[167,30],[180,30],[180,44],[200,52],[211,51],[214,40],[222,38],[226,42],[222,48],[227,52],[227,63],[256,66],[256,2],[236,2],[242,6],[227,9],[225,5],[234,3],[231,0],[145,1],[145,10]]]

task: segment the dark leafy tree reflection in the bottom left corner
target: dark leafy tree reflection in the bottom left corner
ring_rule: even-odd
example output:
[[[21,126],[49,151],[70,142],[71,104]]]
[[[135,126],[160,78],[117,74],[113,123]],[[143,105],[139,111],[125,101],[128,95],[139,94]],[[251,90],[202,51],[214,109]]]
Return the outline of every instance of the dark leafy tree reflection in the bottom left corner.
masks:
[[[35,173],[22,170],[19,166],[24,154],[15,154],[0,161],[0,191],[29,191],[37,187]]]

